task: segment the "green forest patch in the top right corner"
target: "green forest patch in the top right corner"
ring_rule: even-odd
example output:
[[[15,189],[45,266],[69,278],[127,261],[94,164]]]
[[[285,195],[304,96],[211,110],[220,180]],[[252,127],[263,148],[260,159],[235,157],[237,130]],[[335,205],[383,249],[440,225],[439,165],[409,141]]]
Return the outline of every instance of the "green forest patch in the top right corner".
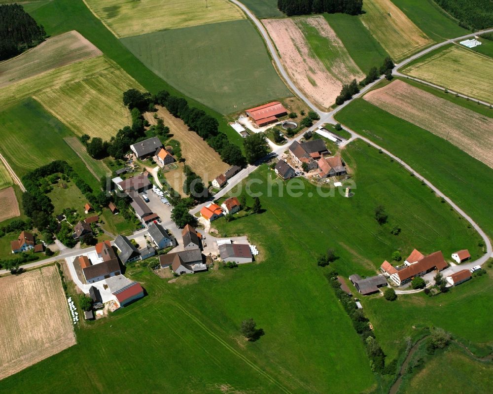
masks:
[[[491,0],[435,0],[445,11],[460,21],[460,25],[473,29],[493,27],[493,1]]]

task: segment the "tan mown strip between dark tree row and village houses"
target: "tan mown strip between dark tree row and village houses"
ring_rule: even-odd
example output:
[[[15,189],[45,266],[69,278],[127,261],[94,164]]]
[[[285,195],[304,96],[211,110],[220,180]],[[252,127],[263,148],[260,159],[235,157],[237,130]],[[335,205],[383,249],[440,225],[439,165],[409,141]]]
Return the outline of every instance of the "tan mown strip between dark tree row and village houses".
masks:
[[[179,141],[181,154],[185,164],[189,166],[204,183],[213,180],[218,175],[226,171],[229,166],[221,160],[219,154],[212,149],[197,133],[188,130],[188,127],[181,119],[174,117],[166,108],[156,106],[157,114],[163,119],[165,126],[170,128],[173,139]],[[150,124],[156,124],[153,113],[145,113],[145,119]],[[165,174],[165,177],[168,176]]]

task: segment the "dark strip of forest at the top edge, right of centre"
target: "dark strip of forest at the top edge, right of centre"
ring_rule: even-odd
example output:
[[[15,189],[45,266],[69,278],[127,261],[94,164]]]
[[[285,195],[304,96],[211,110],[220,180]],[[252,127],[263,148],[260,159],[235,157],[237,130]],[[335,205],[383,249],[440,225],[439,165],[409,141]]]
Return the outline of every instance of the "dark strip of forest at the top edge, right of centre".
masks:
[[[278,0],[278,8],[287,16],[342,12],[361,13],[363,0]]]

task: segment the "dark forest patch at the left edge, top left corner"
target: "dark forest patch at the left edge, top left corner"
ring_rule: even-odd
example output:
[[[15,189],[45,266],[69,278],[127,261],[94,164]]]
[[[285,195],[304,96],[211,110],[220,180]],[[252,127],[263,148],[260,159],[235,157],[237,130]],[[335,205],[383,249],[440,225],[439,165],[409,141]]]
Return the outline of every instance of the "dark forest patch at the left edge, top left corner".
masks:
[[[0,60],[37,45],[45,36],[44,28],[38,26],[22,6],[0,5]]]

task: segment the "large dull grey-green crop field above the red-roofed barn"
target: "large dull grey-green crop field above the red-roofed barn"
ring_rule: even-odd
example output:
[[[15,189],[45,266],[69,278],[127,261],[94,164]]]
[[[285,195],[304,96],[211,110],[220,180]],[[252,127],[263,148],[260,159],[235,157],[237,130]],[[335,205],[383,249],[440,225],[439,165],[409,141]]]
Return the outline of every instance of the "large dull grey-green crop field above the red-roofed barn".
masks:
[[[228,114],[292,96],[247,20],[122,38],[150,70],[195,100]]]

